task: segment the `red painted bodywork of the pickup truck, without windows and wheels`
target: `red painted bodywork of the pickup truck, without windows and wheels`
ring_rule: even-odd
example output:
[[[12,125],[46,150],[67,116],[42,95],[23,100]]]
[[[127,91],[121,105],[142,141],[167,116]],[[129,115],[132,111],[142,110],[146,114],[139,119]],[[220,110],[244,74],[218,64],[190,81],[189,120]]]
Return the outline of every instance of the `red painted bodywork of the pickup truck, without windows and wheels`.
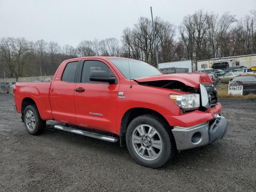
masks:
[[[206,112],[194,112],[180,115],[180,108],[169,98],[170,94],[182,92],[165,88],[142,86],[130,81],[118,71],[108,60],[113,57],[84,57],[66,60],[60,64],[52,82],[18,82],[14,102],[18,112],[24,98],[31,98],[36,103],[43,120],[55,119],[59,122],[74,124],[120,133],[120,125],[124,114],[132,108],[148,108],[164,116],[171,126],[193,126],[214,117],[220,113],[218,104]],[[118,84],[90,84],[62,82],[63,70],[68,62],[79,60],[99,60],[110,67]],[[198,88],[200,83],[211,83],[211,78],[204,73],[165,74],[136,79],[138,82],[154,80],[178,80],[187,86]],[[130,82],[132,88],[130,88]],[[84,88],[84,92],[75,92],[75,88]],[[118,98],[118,92],[124,92],[126,99]],[[90,112],[102,114],[93,116]]]

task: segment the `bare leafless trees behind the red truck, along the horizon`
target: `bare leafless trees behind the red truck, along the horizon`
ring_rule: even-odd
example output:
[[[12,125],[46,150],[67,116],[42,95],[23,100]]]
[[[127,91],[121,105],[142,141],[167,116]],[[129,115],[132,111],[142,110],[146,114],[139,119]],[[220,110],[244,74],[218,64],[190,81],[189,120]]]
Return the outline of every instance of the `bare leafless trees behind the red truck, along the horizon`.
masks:
[[[158,62],[202,60],[256,53],[256,10],[237,20],[230,12],[221,16],[199,10],[186,15],[179,26],[154,18]],[[121,39],[83,40],[76,47],[45,40],[0,38],[0,77],[54,74],[66,59],[82,56],[122,56],[156,66],[154,34],[150,18],[140,17]],[[40,72],[41,70],[41,72]]]

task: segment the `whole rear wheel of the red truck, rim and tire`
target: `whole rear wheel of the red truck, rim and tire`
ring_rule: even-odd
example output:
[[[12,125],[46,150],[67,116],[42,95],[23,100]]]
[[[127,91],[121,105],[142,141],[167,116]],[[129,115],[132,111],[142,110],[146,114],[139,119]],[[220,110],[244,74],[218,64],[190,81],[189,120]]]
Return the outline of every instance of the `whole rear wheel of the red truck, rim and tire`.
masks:
[[[44,131],[46,121],[42,120],[36,105],[28,105],[24,110],[23,120],[29,134],[37,135]]]

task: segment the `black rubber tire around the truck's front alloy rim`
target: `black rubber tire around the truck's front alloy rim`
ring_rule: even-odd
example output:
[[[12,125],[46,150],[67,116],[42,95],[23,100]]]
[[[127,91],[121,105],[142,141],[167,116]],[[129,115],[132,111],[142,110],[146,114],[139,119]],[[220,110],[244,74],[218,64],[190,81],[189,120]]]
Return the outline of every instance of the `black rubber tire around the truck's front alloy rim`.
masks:
[[[162,139],[162,151],[157,158],[152,160],[147,160],[141,157],[136,152],[136,147],[134,147],[134,144],[132,143],[132,135],[134,134],[134,130],[142,124],[152,126],[152,128],[154,128],[160,134]],[[171,133],[170,126],[157,116],[150,114],[138,116],[130,122],[126,132],[126,145],[131,156],[134,158],[134,160],[136,160],[136,162],[138,162],[138,164],[150,168],[159,168],[164,166],[176,152],[174,137]]]

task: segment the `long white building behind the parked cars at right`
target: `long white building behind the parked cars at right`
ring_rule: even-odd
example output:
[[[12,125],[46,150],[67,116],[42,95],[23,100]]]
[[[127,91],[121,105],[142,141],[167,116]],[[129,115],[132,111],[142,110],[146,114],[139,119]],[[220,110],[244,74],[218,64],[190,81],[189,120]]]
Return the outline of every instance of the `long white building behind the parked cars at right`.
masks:
[[[245,66],[246,68],[256,66],[256,54],[213,58],[208,60],[197,61],[197,70],[205,68],[224,69],[235,66]]]

